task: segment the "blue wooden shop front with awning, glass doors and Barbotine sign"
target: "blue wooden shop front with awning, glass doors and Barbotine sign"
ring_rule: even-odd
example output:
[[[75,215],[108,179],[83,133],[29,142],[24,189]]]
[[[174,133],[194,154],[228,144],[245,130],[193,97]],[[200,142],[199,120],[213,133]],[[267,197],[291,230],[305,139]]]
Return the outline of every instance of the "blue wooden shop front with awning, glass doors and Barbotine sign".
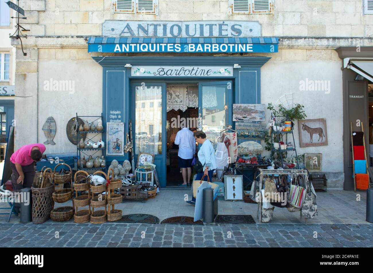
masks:
[[[233,104],[260,104],[260,69],[270,57],[243,55],[278,52],[278,38],[250,36],[246,28],[239,29],[244,25],[239,21],[216,23],[215,37],[184,37],[185,22],[173,22],[164,33],[150,33],[149,22],[126,22],[116,33],[106,21],[106,36],[88,39],[89,52],[115,53],[93,57],[103,67],[103,122],[107,128],[123,123],[124,141],[132,133],[134,160],[131,153],[118,150],[117,155],[107,154],[106,162],[128,159],[136,165],[139,155],[154,155],[160,186],[174,186],[181,182],[174,143],[178,130],[203,130],[216,146],[220,132],[234,128]],[[219,28],[233,29],[232,25],[238,31],[219,36],[225,35]],[[254,26],[260,27],[254,22],[251,32],[260,35]],[[163,37],[154,36],[157,33]],[[133,34],[137,36],[126,36]]]

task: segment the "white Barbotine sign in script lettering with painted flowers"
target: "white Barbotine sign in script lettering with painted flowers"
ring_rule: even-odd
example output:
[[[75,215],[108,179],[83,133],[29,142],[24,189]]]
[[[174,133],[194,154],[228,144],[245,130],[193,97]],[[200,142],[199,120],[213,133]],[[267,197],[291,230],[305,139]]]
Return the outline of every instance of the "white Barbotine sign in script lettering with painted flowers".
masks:
[[[137,77],[233,77],[232,66],[133,66]]]

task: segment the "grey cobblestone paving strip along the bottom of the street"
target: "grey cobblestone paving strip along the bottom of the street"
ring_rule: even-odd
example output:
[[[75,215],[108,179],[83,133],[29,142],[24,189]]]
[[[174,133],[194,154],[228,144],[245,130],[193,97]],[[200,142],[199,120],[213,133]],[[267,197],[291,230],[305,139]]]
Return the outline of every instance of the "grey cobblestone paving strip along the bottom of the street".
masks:
[[[373,224],[3,223],[0,247],[373,247]]]

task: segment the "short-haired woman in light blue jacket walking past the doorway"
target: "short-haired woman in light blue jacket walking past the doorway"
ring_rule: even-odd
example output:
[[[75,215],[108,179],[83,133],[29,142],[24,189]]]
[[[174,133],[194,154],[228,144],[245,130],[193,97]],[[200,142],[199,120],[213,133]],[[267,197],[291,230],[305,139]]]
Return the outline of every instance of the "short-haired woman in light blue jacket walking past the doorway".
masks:
[[[205,176],[204,181],[207,181],[207,177],[209,177],[209,181],[212,182],[212,174],[216,169],[214,147],[212,146],[211,141],[206,138],[206,134],[203,131],[196,131],[194,133],[194,138],[195,141],[201,144],[201,148],[198,151],[198,160],[203,166],[203,171],[197,173],[195,180],[201,180],[202,177]],[[186,203],[194,206],[195,198],[192,197],[192,200],[186,201]]]

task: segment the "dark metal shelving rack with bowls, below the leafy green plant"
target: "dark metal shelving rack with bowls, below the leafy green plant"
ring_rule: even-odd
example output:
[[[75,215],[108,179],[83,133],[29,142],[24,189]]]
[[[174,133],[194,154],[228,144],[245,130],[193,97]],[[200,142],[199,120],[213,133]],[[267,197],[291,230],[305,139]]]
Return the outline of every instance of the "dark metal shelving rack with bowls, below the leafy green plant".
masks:
[[[273,116],[273,114],[271,114],[271,119],[275,118],[275,123],[273,124],[273,126],[281,126],[281,123],[282,121],[281,120],[278,120],[278,118],[283,118],[284,120],[288,120],[288,117],[287,116]],[[291,149],[281,149],[281,147],[279,149],[275,149],[273,147],[273,142],[274,142],[274,136],[276,135],[277,136],[277,139],[278,139],[278,142],[282,141],[283,143],[285,143],[286,145],[288,145],[288,134],[291,134],[292,135],[292,139],[293,139],[293,146],[294,148],[291,148]],[[285,139],[285,140],[284,140]],[[280,154],[280,159],[281,159],[281,166],[283,166],[283,157],[282,157],[282,153],[283,152],[286,152],[286,156],[287,156],[287,152],[289,151],[295,151],[295,158],[297,160],[297,165],[294,167],[295,169],[298,169],[299,168],[299,162],[298,162],[298,154],[297,154],[297,149],[295,148],[295,139],[294,139],[294,133],[293,133],[293,129],[291,129],[290,131],[275,131],[273,128],[272,128],[272,133],[271,133],[271,143],[272,143],[272,151],[271,151],[271,158],[273,157],[274,153],[275,152],[278,152]],[[293,168],[293,169],[294,169]]]

